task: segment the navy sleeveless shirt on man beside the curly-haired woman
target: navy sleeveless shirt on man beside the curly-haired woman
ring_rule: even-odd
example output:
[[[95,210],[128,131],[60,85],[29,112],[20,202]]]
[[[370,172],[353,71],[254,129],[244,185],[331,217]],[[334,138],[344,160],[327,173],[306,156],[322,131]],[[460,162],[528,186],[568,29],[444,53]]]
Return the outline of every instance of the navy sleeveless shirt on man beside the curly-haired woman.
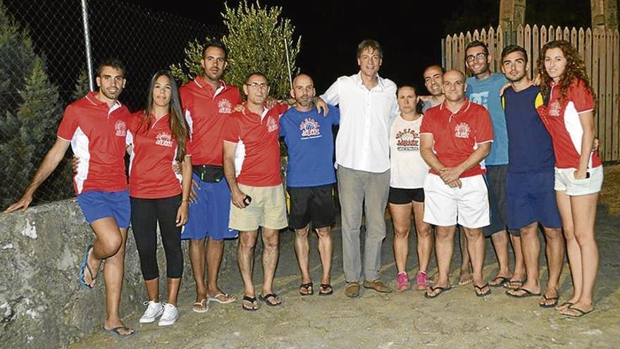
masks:
[[[537,104],[543,104],[538,86],[532,85],[519,92],[508,87],[504,92],[504,113],[509,135],[509,172],[553,172],[555,157],[551,136],[538,116]]]

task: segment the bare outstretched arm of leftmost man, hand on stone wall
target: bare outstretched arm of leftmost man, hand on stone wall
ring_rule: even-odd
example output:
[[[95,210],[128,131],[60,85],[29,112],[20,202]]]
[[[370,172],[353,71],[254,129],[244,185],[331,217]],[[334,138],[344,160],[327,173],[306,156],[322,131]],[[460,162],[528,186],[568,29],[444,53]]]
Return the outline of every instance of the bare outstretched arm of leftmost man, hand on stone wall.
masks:
[[[35,194],[35,191],[39,188],[39,185],[41,185],[41,183],[43,183],[43,181],[46,180],[52,172],[54,172],[56,167],[58,167],[58,164],[60,164],[65,156],[69,145],[70,142],[68,140],[63,140],[60,137],[56,138],[56,142],[45,155],[41,165],[39,165],[37,173],[35,173],[35,177],[32,178],[30,185],[27,186],[24,195],[20,198],[20,200],[4,210],[4,213],[10,213],[20,208],[25,211],[28,208],[30,202],[32,202],[32,196]]]

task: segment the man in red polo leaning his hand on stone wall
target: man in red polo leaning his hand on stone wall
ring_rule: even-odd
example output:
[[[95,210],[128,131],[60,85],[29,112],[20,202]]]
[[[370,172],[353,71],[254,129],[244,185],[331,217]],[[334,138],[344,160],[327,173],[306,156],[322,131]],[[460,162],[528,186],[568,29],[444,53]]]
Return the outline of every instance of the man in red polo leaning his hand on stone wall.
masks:
[[[118,102],[125,87],[125,67],[117,59],[97,69],[99,92],[89,92],[69,104],[58,126],[58,138],[39,166],[21,199],[6,213],[27,209],[32,195],[62,161],[69,145],[82,159],[73,177],[77,203],[95,234],[80,267],[80,286],[91,289],[106,261],[106,322],[104,331],[119,338],[136,333],[123,325],[118,314],[125,269],[125,243],[130,222],[130,201],[125,176],[125,137],[129,110]]]

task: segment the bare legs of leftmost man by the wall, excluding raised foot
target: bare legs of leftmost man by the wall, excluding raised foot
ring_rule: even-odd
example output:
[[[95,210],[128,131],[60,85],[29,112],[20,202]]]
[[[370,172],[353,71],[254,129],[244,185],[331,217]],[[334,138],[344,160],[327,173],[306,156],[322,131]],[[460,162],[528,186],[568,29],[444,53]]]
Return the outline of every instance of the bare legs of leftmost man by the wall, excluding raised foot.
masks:
[[[119,307],[120,292],[123,289],[123,276],[125,273],[127,229],[118,228],[116,220],[112,217],[97,219],[91,226],[95,235],[97,235],[91,257],[99,259],[99,265],[101,265],[101,259],[106,259],[106,266],[104,267],[106,322],[104,328],[114,329],[118,326],[123,326],[123,322],[120,320]],[[97,265],[97,269],[99,269],[99,265]],[[134,329],[118,329],[118,333],[121,335],[134,331]]]

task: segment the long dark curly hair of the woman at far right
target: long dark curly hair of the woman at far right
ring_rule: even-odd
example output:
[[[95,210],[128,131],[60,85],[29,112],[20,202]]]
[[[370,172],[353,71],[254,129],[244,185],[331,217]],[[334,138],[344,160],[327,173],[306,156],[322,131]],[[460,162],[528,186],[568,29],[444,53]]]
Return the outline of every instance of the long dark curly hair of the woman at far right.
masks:
[[[585,83],[585,88],[594,96],[588,73],[585,73],[585,63],[583,63],[583,59],[581,59],[577,50],[566,40],[554,40],[547,42],[547,44],[543,46],[543,49],[540,50],[540,56],[538,57],[540,92],[542,92],[545,98],[545,104],[549,102],[552,80],[545,69],[545,54],[547,54],[547,50],[549,49],[561,49],[566,59],[566,68],[564,68],[562,78],[559,80],[559,90],[562,93],[562,99],[566,98],[566,93],[576,79],[582,80]]]

